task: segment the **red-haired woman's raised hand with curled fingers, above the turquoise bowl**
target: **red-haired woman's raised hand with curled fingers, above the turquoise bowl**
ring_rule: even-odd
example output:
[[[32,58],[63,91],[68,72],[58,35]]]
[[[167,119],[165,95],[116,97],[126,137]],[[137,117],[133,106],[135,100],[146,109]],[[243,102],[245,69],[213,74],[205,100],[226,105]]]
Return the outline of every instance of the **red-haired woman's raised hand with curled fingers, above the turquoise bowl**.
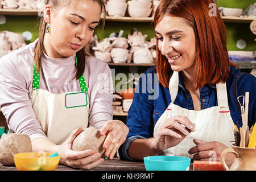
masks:
[[[158,133],[152,141],[153,146],[159,152],[166,148],[174,147],[192,131],[196,131],[195,124],[187,117],[176,115],[166,119],[160,126]]]

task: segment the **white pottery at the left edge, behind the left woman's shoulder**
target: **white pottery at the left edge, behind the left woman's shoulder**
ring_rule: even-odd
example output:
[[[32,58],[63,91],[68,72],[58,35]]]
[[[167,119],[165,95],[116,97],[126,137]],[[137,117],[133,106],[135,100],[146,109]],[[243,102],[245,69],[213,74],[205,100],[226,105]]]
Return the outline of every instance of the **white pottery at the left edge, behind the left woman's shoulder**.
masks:
[[[23,46],[26,43],[22,35],[10,31],[0,32],[0,57]]]

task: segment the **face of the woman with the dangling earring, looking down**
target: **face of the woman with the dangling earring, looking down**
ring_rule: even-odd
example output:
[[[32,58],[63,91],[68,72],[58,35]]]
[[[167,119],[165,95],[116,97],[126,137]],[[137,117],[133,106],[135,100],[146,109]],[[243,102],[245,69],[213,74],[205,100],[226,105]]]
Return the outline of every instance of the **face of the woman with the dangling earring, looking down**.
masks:
[[[54,57],[68,57],[80,51],[92,37],[100,15],[101,6],[93,1],[77,1],[52,13],[48,36]]]

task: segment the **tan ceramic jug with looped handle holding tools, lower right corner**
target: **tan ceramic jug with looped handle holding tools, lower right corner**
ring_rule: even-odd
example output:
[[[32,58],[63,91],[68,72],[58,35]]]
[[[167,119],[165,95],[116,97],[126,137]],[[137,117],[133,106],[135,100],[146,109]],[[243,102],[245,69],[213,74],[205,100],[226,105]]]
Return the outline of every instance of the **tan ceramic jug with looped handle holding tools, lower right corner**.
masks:
[[[237,147],[226,148],[221,154],[221,163],[226,171],[256,171],[256,148]],[[229,168],[225,162],[225,156],[228,153],[236,155],[236,159]]]

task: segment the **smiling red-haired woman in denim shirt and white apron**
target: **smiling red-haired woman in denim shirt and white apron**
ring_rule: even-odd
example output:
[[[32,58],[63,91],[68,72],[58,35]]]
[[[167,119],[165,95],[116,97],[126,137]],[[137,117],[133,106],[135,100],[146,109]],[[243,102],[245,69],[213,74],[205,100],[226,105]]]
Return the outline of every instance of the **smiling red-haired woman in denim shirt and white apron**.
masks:
[[[237,97],[245,92],[248,125],[255,123],[256,78],[230,63],[225,26],[220,14],[209,13],[212,3],[164,0],[156,9],[156,67],[135,90],[121,159],[164,154],[220,160],[234,141],[234,125],[242,126]]]

